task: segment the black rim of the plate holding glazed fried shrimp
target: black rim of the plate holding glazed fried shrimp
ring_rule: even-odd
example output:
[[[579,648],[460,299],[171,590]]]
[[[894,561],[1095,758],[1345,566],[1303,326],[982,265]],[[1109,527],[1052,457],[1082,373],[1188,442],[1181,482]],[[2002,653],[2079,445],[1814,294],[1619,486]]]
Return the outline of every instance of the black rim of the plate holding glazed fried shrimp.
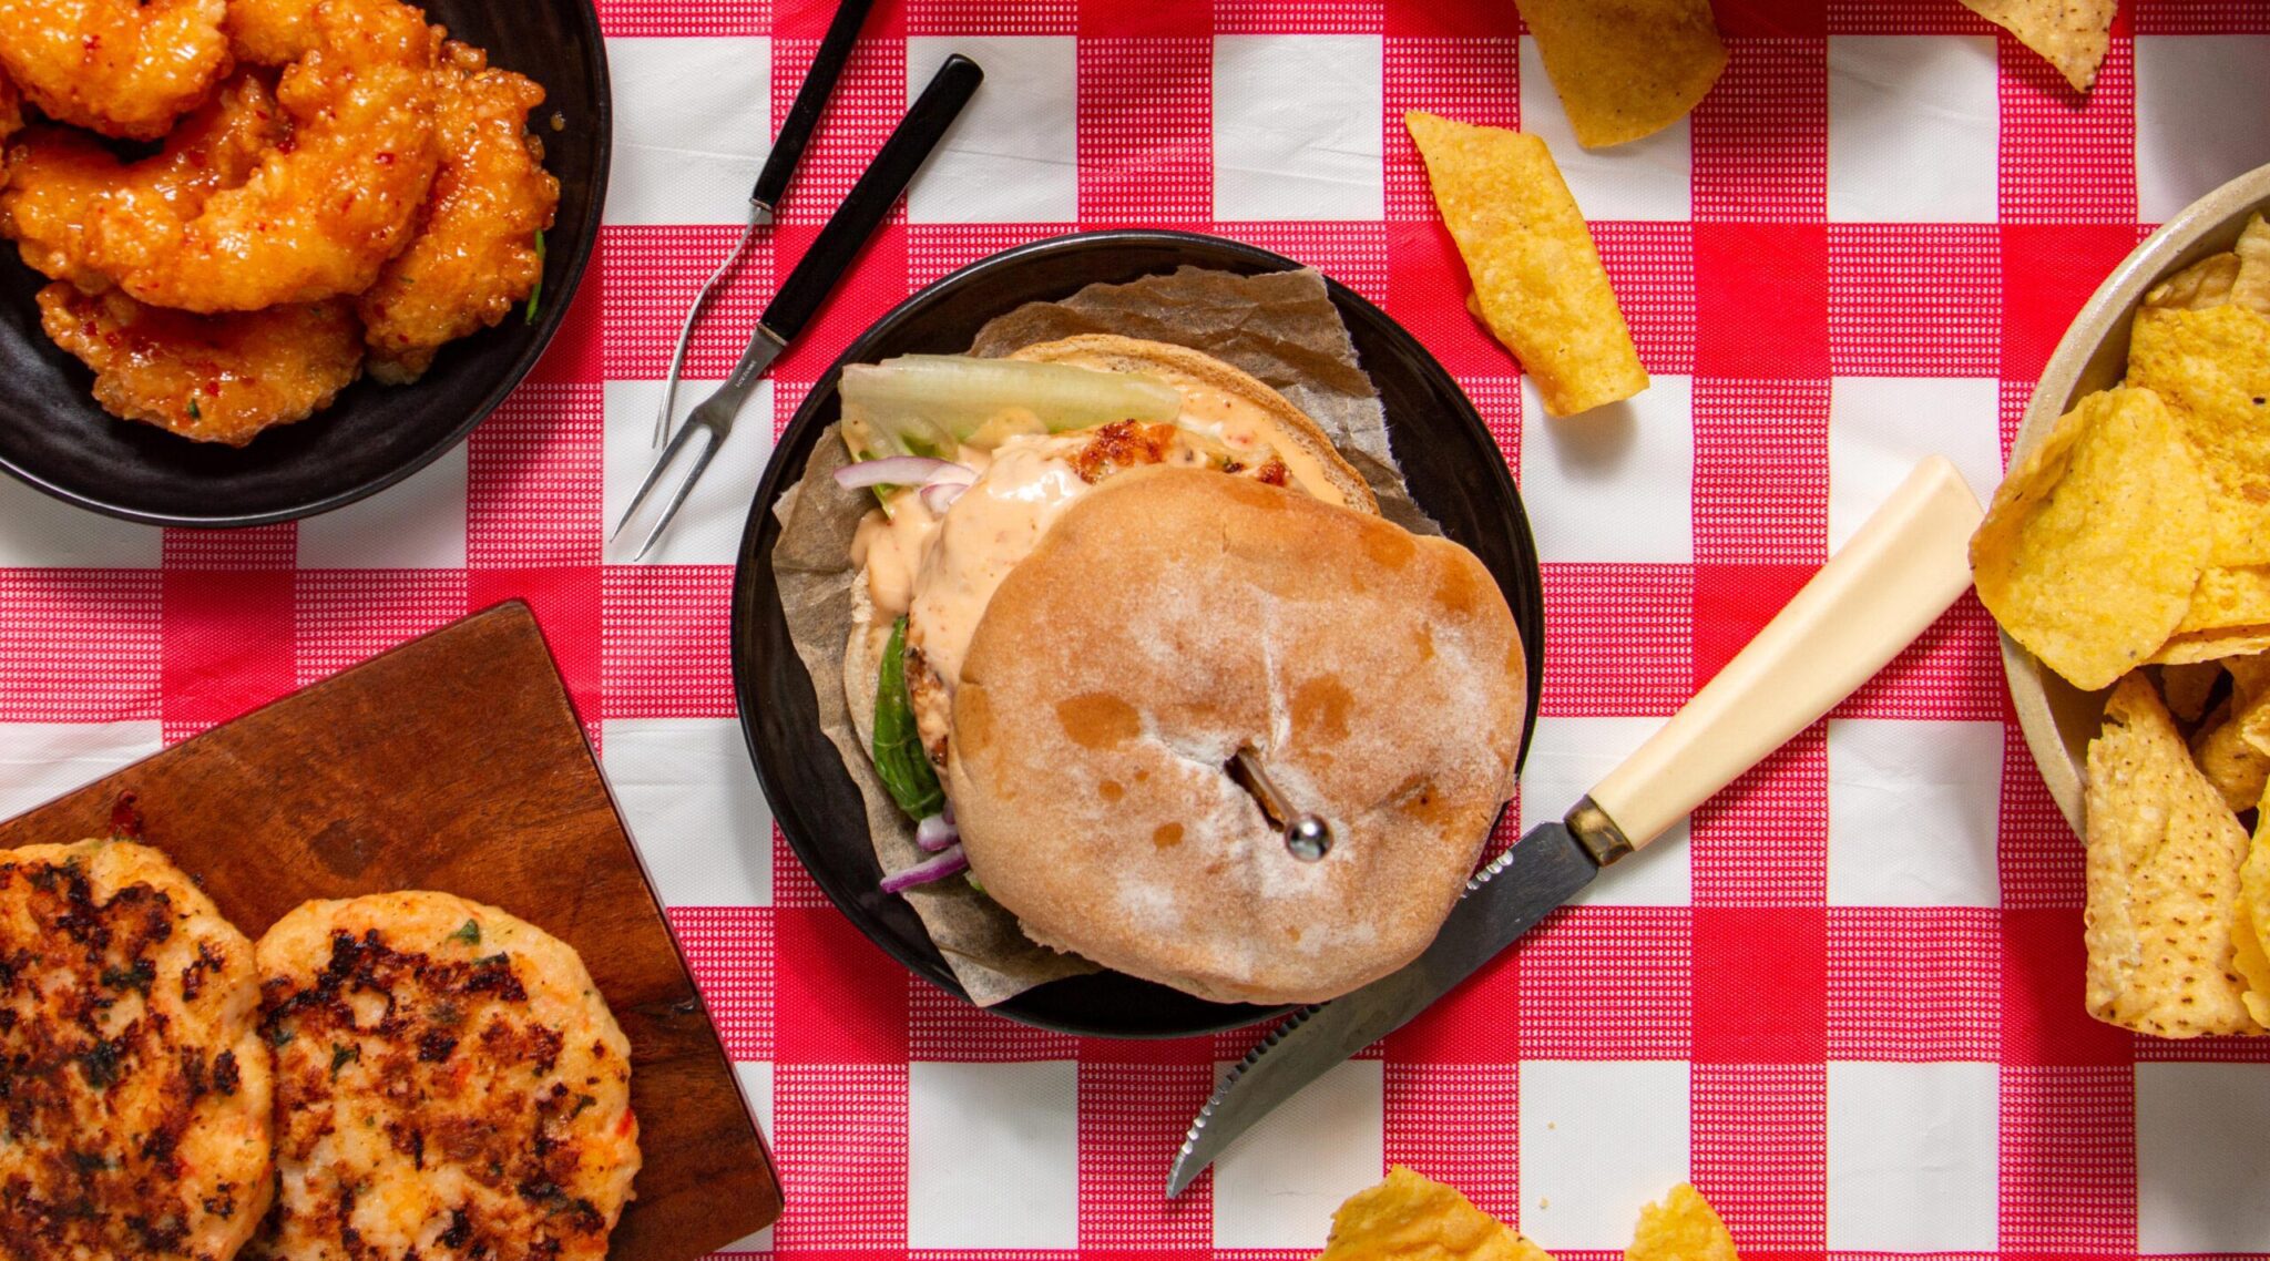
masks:
[[[402,481],[409,481],[413,474],[422,472],[434,460],[454,451],[459,442],[472,435],[472,431],[484,420],[488,420],[499,406],[504,406],[504,399],[511,397],[513,390],[522,386],[522,381],[527,381],[529,372],[536,370],[536,363],[543,361],[547,349],[552,349],[552,340],[558,336],[561,324],[568,322],[568,308],[574,306],[574,295],[583,286],[583,274],[590,268],[590,259],[599,249],[599,227],[602,220],[606,218],[606,188],[615,163],[615,82],[606,61],[606,34],[599,27],[599,9],[595,0],[574,0],[570,7],[574,11],[574,25],[579,27],[577,43],[588,50],[583,59],[586,86],[590,86],[592,100],[599,104],[597,118],[592,118],[592,129],[597,132],[599,147],[595,152],[595,163],[592,163],[590,222],[586,222],[583,231],[577,236],[574,243],[570,243],[570,249],[565,249],[556,293],[547,295],[552,299],[549,302],[552,308],[540,315],[536,327],[536,340],[531,340],[529,347],[520,354],[520,358],[515,358],[511,367],[497,379],[497,383],[486,395],[481,395],[481,399],[465,413],[465,420],[461,420],[454,429],[449,429],[427,449],[418,451],[415,458],[402,460],[397,467],[379,476],[365,479],[343,490],[334,490],[331,494],[311,499],[306,503],[297,503],[291,508],[270,508],[266,513],[211,513],[211,515],[152,513],[148,508],[116,503],[100,494],[86,494],[79,490],[54,485],[52,481],[39,476],[32,469],[18,467],[14,460],[7,458],[0,458],[0,472],[20,481],[23,485],[30,485],[32,490],[39,490],[41,494],[48,494],[50,499],[59,499],[64,503],[70,503],[73,508],[86,508],[89,513],[100,513],[104,517],[114,517],[120,522],[134,522],[141,526],[195,528],[195,531],[236,531],[250,526],[275,526],[281,522],[304,522],[306,517],[320,517],[325,513],[334,513],[350,503],[359,503],[381,490],[390,490]],[[549,243],[547,243],[547,254],[561,256],[558,252],[549,249]]]

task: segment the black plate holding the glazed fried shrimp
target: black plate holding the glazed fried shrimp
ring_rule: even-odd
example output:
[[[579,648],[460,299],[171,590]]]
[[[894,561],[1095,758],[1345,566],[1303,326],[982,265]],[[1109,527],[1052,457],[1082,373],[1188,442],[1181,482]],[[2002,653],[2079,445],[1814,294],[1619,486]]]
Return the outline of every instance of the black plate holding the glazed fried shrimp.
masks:
[[[356,381],[327,411],[243,449],[188,442],[95,406],[93,374],[39,329],[45,277],[0,243],[0,467],[68,503],[157,526],[261,526],[343,508],[456,447],[527,376],[599,240],[613,147],[606,43],[590,0],[422,0],[429,20],[545,86],[529,125],[561,181],[536,324],[520,313],[443,347],[406,388]],[[552,116],[565,127],[554,132]]]

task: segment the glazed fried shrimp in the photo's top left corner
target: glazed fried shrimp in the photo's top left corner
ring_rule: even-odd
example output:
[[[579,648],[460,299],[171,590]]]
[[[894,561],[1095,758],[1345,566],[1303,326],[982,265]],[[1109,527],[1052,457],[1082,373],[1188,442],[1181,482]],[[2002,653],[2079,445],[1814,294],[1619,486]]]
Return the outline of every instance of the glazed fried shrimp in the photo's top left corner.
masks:
[[[0,66],[48,118],[154,141],[234,66],[225,0],[0,0]]]

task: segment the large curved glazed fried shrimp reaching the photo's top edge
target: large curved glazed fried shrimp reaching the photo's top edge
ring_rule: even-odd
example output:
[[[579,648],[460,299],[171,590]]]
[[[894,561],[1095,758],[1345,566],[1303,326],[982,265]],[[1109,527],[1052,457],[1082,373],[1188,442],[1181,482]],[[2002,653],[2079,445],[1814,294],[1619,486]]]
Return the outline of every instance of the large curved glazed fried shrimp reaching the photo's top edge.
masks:
[[[422,14],[322,0],[304,41],[277,84],[288,145],[195,215],[152,209],[141,231],[104,225],[129,295],[197,313],[322,302],[370,288],[409,245],[438,163]]]

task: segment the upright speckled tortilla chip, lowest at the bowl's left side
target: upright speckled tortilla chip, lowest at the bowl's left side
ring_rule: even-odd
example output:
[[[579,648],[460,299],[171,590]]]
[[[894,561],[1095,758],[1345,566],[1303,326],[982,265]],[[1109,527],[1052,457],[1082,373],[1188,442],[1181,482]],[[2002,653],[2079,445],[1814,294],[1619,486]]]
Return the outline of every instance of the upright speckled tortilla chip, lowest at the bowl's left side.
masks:
[[[2231,953],[2247,832],[2132,674],[2088,742],[2088,1014],[2143,1034],[2259,1034]]]

